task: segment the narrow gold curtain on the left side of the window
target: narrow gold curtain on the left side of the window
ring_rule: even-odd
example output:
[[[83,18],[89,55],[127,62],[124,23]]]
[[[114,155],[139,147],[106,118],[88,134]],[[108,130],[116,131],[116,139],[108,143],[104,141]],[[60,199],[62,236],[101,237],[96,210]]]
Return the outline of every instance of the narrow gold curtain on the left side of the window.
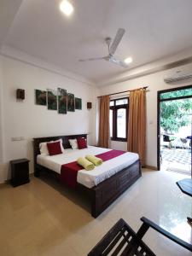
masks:
[[[99,146],[108,148],[109,139],[109,96],[101,96],[99,117]]]

